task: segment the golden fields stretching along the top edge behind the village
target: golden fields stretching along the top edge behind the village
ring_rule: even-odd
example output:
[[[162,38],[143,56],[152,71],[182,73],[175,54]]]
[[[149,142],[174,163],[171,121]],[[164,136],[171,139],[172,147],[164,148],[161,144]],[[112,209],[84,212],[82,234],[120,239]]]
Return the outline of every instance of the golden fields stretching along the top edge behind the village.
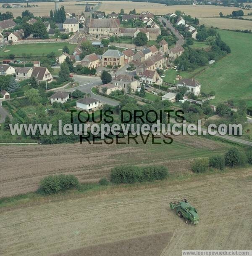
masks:
[[[70,13],[81,14],[85,10],[84,1],[64,1],[60,2],[60,5],[64,5],[65,10]],[[124,9],[126,13],[129,13],[130,10],[134,8],[138,13],[142,11],[151,11],[154,14],[166,14],[170,12],[175,12],[176,10],[184,11],[186,14],[190,14],[193,17],[213,17],[219,16],[220,11],[226,15],[232,13],[234,10],[239,10],[236,7],[225,7],[225,6],[215,6],[215,5],[171,5],[165,6],[163,4],[157,3],[144,3],[144,2],[128,2],[128,1],[102,1],[101,4],[97,2],[89,2],[96,5],[99,5],[95,8],[99,11],[105,11],[105,13],[111,13],[113,11],[120,12],[121,8]],[[43,2],[36,3],[38,7],[30,7],[30,8],[0,8],[1,13],[5,13],[6,11],[11,11],[14,17],[21,16],[21,13],[28,9],[30,12],[34,14],[34,16],[49,16],[50,10],[54,10],[55,4],[53,2]],[[244,13],[250,13],[250,10],[243,10]]]

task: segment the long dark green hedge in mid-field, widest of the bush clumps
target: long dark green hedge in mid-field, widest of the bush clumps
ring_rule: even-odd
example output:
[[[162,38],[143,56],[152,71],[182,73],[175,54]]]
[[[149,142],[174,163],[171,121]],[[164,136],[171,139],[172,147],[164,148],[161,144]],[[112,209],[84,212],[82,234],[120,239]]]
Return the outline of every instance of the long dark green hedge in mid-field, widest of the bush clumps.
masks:
[[[134,165],[121,165],[111,170],[110,180],[115,184],[135,183],[162,180],[167,176],[168,170],[164,166],[138,167]]]

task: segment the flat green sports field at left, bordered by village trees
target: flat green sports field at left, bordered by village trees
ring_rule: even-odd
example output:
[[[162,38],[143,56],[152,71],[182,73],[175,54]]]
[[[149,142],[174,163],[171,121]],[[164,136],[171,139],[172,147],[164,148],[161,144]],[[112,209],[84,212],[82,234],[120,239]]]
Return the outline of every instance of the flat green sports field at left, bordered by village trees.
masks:
[[[10,54],[14,54],[15,57],[46,56],[52,51],[55,52],[57,56],[59,56],[62,54],[62,48],[65,45],[67,45],[69,48],[70,53],[74,52],[76,45],[69,43],[34,43],[24,45],[7,45],[5,48],[1,49],[0,58],[8,58]]]

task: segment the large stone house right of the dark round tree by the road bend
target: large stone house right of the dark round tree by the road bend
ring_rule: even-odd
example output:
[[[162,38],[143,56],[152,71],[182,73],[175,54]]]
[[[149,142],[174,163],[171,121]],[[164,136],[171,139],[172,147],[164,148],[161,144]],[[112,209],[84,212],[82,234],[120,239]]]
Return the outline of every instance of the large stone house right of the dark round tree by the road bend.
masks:
[[[131,75],[118,75],[112,80],[113,85],[120,87],[122,90],[136,92],[140,82]]]

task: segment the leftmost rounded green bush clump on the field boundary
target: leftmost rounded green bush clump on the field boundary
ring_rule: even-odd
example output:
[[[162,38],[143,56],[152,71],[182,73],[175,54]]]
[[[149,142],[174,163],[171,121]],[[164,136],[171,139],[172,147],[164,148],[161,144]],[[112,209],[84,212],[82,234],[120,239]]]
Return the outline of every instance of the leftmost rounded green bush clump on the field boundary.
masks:
[[[46,194],[55,194],[78,186],[79,181],[74,175],[50,175],[40,181],[40,189]]]

